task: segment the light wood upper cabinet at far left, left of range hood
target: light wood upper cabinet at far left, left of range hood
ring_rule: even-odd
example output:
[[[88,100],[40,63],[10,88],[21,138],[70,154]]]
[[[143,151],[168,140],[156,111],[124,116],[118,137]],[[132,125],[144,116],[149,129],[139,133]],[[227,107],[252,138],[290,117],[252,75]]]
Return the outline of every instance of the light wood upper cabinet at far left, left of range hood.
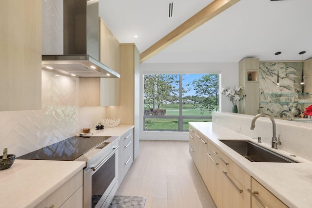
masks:
[[[1,0],[0,19],[0,111],[41,109],[41,0]]]

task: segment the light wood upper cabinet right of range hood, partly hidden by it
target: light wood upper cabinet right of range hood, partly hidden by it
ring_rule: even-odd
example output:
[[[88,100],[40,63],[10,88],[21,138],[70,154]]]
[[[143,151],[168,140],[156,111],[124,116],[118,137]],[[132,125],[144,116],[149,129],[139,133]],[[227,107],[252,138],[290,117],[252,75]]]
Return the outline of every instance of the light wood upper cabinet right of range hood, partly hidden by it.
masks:
[[[99,61],[120,73],[120,45],[103,19],[99,19]],[[116,106],[120,103],[119,78],[80,78],[80,106]]]

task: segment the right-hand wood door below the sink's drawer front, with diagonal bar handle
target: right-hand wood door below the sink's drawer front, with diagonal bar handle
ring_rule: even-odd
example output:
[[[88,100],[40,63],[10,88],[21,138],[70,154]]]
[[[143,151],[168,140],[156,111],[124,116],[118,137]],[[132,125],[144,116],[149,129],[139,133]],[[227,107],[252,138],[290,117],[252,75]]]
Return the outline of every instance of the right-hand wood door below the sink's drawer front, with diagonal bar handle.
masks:
[[[250,194],[222,167],[222,208],[250,208]]]

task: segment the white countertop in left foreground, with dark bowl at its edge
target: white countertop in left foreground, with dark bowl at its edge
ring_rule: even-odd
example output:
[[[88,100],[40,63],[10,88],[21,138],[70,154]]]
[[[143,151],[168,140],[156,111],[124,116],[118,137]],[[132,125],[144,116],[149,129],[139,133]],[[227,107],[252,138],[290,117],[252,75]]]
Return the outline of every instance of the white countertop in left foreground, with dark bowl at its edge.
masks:
[[[33,208],[85,166],[85,162],[18,160],[0,170],[0,208]]]

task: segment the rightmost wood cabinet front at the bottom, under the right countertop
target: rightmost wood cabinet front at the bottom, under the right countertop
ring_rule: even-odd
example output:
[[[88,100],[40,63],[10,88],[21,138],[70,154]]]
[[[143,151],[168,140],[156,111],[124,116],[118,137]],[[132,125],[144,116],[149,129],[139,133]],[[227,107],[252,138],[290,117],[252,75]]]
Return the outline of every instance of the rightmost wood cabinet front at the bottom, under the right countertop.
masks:
[[[249,190],[250,191],[250,190]],[[264,188],[259,182],[252,177],[252,208],[288,208],[268,189]]]

